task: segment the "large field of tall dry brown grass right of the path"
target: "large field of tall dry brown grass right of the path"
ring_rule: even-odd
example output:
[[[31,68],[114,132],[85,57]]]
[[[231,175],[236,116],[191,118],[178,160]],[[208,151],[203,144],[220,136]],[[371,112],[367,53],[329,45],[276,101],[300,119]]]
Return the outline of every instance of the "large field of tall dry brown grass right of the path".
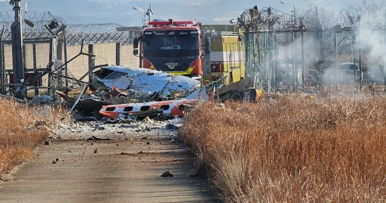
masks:
[[[225,202],[385,202],[386,97],[203,103],[186,143]]]

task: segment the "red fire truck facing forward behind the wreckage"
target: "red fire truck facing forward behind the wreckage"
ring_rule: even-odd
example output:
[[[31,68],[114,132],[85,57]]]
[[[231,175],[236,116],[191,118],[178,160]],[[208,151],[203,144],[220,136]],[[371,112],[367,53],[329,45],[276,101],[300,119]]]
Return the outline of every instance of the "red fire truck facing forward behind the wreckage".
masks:
[[[202,56],[210,53],[209,39],[201,36],[202,25],[172,19],[147,25],[134,39],[133,53],[139,54],[140,67],[202,81]]]

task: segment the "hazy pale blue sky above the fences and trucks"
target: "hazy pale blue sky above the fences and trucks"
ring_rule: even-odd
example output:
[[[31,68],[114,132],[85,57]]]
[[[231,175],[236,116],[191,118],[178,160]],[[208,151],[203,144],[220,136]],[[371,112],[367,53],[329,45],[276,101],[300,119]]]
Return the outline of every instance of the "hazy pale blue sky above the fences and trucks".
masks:
[[[299,11],[310,8],[313,0],[288,0],[295,3]],[[319,0],[328,9],[340,10],[360,0]],[[140,26],[141,12],[132,9],[139,7],[147,10],[148,0],[22,0],[22,7],[29,12],[51,12],[66,20],[67,24],[117,23],[124,26]],[[229,23],[242,12],[256,5],[259,8],[271,6],[282,12],[290,13],[293,7],[281,4],[280,0],[152,0],[153,17],[156,19],[198,20],[204,24]],[[12,11],[8,0],[0,0],[0,12]],[[0,14],[0,21],[4,17]]]

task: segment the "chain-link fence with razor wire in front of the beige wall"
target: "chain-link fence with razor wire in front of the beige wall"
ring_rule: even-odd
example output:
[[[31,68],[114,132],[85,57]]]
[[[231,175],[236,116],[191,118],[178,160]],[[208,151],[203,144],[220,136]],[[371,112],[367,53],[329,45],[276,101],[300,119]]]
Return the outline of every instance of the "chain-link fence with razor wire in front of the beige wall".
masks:
[[[66,25],[47,13],[22,13],[25,80],[29,96],[69,91],[87,82],[87,74],[98,65],[136,66],[132,43],[141,27],[117,24]],[[0,90],[12,92],[13,55],[11,25],[14,12],[0,12]],[[79,80],[80,79],[80,80]]]

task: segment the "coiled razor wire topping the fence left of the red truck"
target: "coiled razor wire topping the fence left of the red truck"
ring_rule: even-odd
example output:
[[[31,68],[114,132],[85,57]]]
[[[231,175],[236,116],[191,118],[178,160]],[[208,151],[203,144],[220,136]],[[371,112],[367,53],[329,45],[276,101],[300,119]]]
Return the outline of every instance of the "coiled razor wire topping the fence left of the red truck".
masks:
[[[52,15],[50,12],[28,12],[22,14],[22,29],[24,39],[52,38],[54,35],[46,28],[51,22],[56,22],[56,31],[60,26],[66,25],[64,19]],[[0,12],[0,31],[4,29],[3,40],[11,40],[11,25],[14,22],[13,11]],[[66,25],[66,41],[68,46],[99,43],[132,44],[139,36],[142,27],[125,27],[119,24],[69,24]]]

